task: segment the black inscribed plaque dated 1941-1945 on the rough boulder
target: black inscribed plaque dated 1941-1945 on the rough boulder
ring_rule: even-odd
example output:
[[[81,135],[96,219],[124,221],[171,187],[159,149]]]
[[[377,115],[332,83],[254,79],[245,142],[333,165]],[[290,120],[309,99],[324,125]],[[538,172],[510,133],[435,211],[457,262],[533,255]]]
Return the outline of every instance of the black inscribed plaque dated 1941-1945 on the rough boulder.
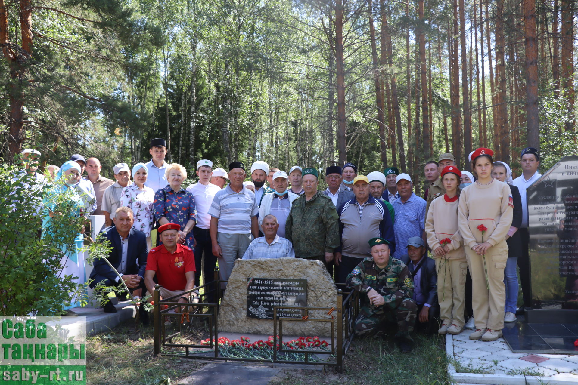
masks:
[[[273,306],[307,306],[306,279],[249,278],[247,280],[247,317],[273,319]],[[286,309],[280,317],[301,318],[302,311]]]

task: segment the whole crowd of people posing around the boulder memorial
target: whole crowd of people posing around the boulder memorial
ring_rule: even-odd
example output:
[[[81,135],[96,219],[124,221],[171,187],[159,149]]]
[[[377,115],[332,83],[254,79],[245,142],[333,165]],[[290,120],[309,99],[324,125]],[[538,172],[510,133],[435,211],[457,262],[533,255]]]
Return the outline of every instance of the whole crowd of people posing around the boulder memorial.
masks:
[[[38,152],[26,151],[33,163]],[[443,154],[424,166],[423,198],[409,174],[389,167],[364,175],[353,163],[320,175],[301,166],[286,173],[263,161],[232,162],[224,170],[201,159],[198,182],[184,189],[187,171],[165,162],[163,139],[151,141],[150,154],[150,162],[132,169],[114,166],[116,182],[100,175],[97,158],[81,155],[55,175],[61,188],[75,192],[84,215],[106,219],[109,261],[121,276],[97,260],[91,285],[123,279],[141,296],[152,292],[156,277],[162,297],[176,296],[198,287],[201,275],[212,281],[217,262],[219,279],[227,281],[240,258],[319,260],[338,285],[360,291],[356,334],[379,332],[391,316],[404,352],[412,349],[416,325],[459,334],[469,323],[470,339],[501,337],[503,323],[521,310],[516,265],[524,305],[530,304],[526,188],[540,177],[534,148],[521,152],[523,175],[515,180],[491,149],[469,155],[473,174]],[[321,191],[320,177],[327,182]],[[46,220],[51,215],[46,207]],[[116,309],[107,304],[105,311]]]

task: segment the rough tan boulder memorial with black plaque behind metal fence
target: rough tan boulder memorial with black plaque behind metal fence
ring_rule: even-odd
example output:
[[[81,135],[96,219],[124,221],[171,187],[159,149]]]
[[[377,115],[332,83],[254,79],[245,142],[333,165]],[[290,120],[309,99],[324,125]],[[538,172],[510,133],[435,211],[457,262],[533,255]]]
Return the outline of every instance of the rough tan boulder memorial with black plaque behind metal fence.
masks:
[[[219,307],[218,330],[273,335],[273,304],[335,308],[336,299],[337,288],[321,261],[301,258],[238,259]],[[249,306],[261,317],[251,316],[253,312]],[[303,321],[301,311],[284,312],[286,314],[283,316],[299,319],[283,321],[284,335],[331,335],[329,322]],[[331,319],[331,315],[326,313],[309,311],[308,317]],[[336,312],[332,313],[332,316],[336,315]]]

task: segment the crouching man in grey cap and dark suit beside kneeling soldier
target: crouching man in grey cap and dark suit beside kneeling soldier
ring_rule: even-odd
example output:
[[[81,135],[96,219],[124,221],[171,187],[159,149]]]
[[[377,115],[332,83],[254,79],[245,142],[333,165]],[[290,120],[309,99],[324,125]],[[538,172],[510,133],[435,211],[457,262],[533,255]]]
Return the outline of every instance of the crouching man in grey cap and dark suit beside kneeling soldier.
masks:
[[[416,328],[432,334],[439,329],[438,274],[435,261],[427,256],[425,242],[421,237],[407,240],[407,254],[401,261],[409,268],[413,279],[413,300],[417,304]]]

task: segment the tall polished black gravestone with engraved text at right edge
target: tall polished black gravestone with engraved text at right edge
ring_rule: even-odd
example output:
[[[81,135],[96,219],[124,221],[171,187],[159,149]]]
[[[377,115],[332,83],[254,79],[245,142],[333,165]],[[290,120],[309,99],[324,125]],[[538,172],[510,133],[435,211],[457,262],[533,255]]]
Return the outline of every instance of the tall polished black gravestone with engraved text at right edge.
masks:
[[[528,187],[527,196],[532,290],[528,322],[576,323],[578,156],[562,158]]]

